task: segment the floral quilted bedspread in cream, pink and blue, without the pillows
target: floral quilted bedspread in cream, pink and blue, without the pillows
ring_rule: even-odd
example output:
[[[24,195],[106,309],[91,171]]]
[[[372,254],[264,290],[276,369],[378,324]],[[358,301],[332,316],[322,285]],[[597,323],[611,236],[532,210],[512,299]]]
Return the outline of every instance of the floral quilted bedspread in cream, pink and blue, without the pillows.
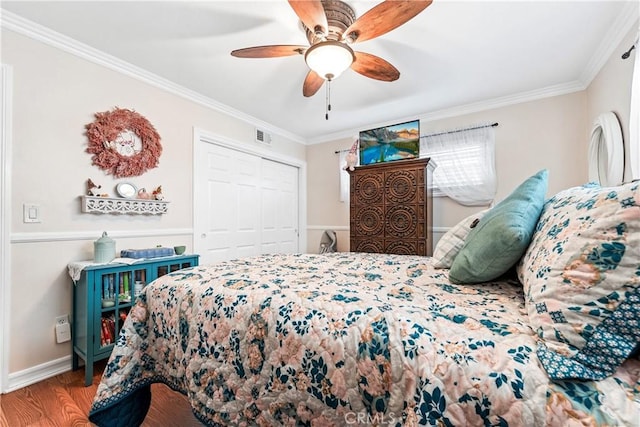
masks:
[[[265,255],[148,285],[91,409],[136,425],[148,389],[207,425],[637,426],[640,361],[551,382],[517,281],[453,285],[430,258]]]

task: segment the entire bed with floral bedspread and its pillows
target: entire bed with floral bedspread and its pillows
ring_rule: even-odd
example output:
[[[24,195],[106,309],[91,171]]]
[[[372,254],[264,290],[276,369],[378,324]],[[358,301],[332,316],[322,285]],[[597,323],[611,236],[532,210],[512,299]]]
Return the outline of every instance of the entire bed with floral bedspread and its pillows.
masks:
[[[532,193],[530,186],[514,192],[526,195],[527,206]],[[161,382],[186,395],[195,416],[210,426],[637,426],[638,194],[637,185],[620,187],[615,197],[594,186],[549,200],[542,191],[524,249],[484,260],[495,266],[516,259],[489,280],[461,279],[459,264],[478,262],[470,243],[485,232],[496,236],[492,215],[504,222],[502,202],[479,218],[488,229],[471,229],[478,221],[467,218],[451,230],[449,245],[439,244],[446,256],[271,254],[163,276],[131,310],[90,420],[139,425],[150,385]],[[615,214],[600,215],[613,205],[625,230]],[[622,237],[603,234],[612,225],[599,218],[617,222]],[[595,257],[597,250],[575,236],[628,246]],[[517,252],[510,243],[509,252]],[[571,249],[574,244],[579,249]],[[494,247],[489,252],[483,256],[496,255]],[[594,272],[576,264],[583,252],[605,278],[594,282]],[[570,292],[562,287],[576,283],[579,295],[566,299]],[[558,291],[550,293],[552,287]],[[594,306],[594,298],[606,309]],[[588,309],[576,320],[571,316],[580,317],[581,304]],[[558,313],[564,313],[561,322]],[[622,332],[605,337],[603,346],[602,334],[620,323]],[[604,353],[614,347],[616,354],[591,359],[594,345]]]

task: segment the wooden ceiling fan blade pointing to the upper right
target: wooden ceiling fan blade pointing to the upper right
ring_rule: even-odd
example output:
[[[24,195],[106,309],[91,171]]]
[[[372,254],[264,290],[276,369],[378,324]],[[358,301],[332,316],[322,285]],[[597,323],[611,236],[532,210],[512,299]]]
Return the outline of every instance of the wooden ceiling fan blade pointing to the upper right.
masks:
[[[371,8],[344,32],[344,39],[351,43],[363,42],[398,28],[431,4],[426,1],[387,0]]]

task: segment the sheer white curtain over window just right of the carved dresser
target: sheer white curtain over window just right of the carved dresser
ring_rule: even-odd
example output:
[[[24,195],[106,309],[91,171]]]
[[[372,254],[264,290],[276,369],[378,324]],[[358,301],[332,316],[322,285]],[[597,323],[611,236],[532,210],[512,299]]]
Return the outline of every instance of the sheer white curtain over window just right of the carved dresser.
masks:
[[[487,206],[496,195],[495,131],[491,125],[420,138],[420,157],[431,157],[434,194],[465,206]]]

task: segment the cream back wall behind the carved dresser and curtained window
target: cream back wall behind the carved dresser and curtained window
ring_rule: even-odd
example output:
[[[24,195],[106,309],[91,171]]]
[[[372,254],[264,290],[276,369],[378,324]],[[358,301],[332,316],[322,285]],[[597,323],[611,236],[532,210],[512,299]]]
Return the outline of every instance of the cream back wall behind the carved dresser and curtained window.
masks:
[[[587,179],[586,93],[555,96],[508,107],[489,109],[437,121],[421,121],[421,133],[437,133],[478,123],[498,122],[496,173],[501,200],[520,182],[543,168],[549,169],[549,192],[577,185]],[[317,251],[322,227],[342,230],[340,250],[349,248],[349,204],[338,201],[335,150],[348,149],[353,141],[338,140],[308,147],[309,233],[308,250]],[[322,177],[318,177],[322,173]],[[465,207],[447,197],[433,202],[433,225],[445,230],[484,207]],[[320,222],[323,221],[323,222]],[[441,237],[436,233],[434,241]]]

